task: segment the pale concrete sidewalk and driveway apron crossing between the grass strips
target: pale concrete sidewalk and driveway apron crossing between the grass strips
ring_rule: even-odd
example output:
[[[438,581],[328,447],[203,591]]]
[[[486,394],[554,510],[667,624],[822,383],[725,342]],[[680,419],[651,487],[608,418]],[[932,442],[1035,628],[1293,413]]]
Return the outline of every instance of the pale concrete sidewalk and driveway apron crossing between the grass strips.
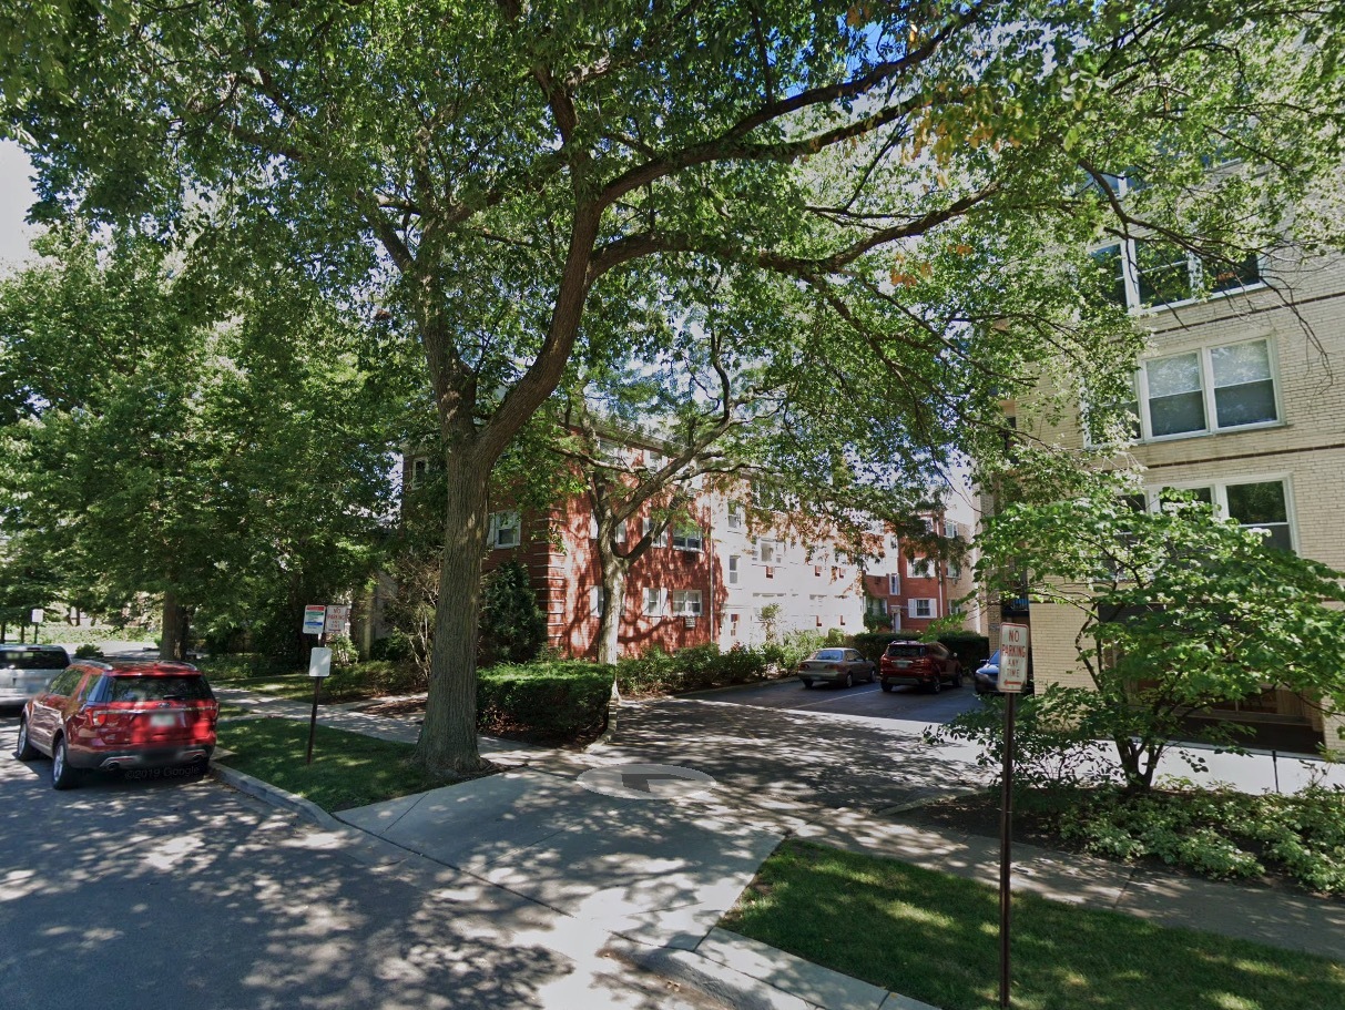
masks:
[[[225,699],[258,714],[303,718],[309,706]],[[420,726],[328,706],[323,725],[412,741]],[[526,897],[607,949],[730,1006],[869,1007],[920,1003],[718,929],[717,923],[787,837],[902,859],[994,885],[998,839],[936,832],[873,814],[827,808],[724,783],[679,795],[593,792],[588,771],[619,767],[616,748],[586,753],[484,740],[500,775],[339,811],[336,822],[386,846]],[[628,756],[627,756],[628,759]],[[320,811],[319,818],[327,818]],[[334,823],[331,818],[325,822]],[[347,828],[347,830],[350,830]],[[1014,850],[1017,890],[1340,959],[1345,902],[1135,870],[1030,846]]]

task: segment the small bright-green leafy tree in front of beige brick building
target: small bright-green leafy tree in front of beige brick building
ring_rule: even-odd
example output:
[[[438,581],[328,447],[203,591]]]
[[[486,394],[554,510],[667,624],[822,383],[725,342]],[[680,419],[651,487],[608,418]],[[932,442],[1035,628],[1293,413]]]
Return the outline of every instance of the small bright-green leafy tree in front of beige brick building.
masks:
[[[1209,706],[1267,685],[1345,705],[1345,576],[1190,495],[1137,510],[1137,491],[1128,475],[1099,475],[1069,499],[1009,506],[987,525],[978,576],[991,593],[1026,578],[1034,601],[1081,616],[1077,662],[1096,691],[1075,707],[1143,789]]]

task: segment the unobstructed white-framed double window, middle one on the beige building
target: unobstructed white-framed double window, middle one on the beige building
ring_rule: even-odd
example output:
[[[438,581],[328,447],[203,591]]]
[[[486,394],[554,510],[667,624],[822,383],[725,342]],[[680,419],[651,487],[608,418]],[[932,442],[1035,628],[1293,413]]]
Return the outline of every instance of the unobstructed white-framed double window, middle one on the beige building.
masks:
[[[1167,438],[1279,421],[1268,340],[1205,347],[1143,362],[1141,434]]]

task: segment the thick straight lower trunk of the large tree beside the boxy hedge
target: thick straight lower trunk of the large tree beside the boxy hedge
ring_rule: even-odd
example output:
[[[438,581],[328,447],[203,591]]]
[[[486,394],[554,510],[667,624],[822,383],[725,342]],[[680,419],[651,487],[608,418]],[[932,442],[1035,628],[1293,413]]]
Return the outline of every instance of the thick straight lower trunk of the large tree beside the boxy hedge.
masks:
[[[432,771],[465,775],[484,767],[476,748],[476,636],[490,468],[475,465],[465,452],[449,452],[447,464],[429,698],[416,754]]]

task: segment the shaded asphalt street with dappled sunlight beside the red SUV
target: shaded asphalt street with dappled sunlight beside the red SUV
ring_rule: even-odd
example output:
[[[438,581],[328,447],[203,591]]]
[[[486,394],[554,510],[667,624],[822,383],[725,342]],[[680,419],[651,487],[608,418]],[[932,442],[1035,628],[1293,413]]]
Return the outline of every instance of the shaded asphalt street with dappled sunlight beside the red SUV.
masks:
[[[71,792],[0,714],[0,1010],[689,1007],[465,874],[371,865],[206,779]]]

